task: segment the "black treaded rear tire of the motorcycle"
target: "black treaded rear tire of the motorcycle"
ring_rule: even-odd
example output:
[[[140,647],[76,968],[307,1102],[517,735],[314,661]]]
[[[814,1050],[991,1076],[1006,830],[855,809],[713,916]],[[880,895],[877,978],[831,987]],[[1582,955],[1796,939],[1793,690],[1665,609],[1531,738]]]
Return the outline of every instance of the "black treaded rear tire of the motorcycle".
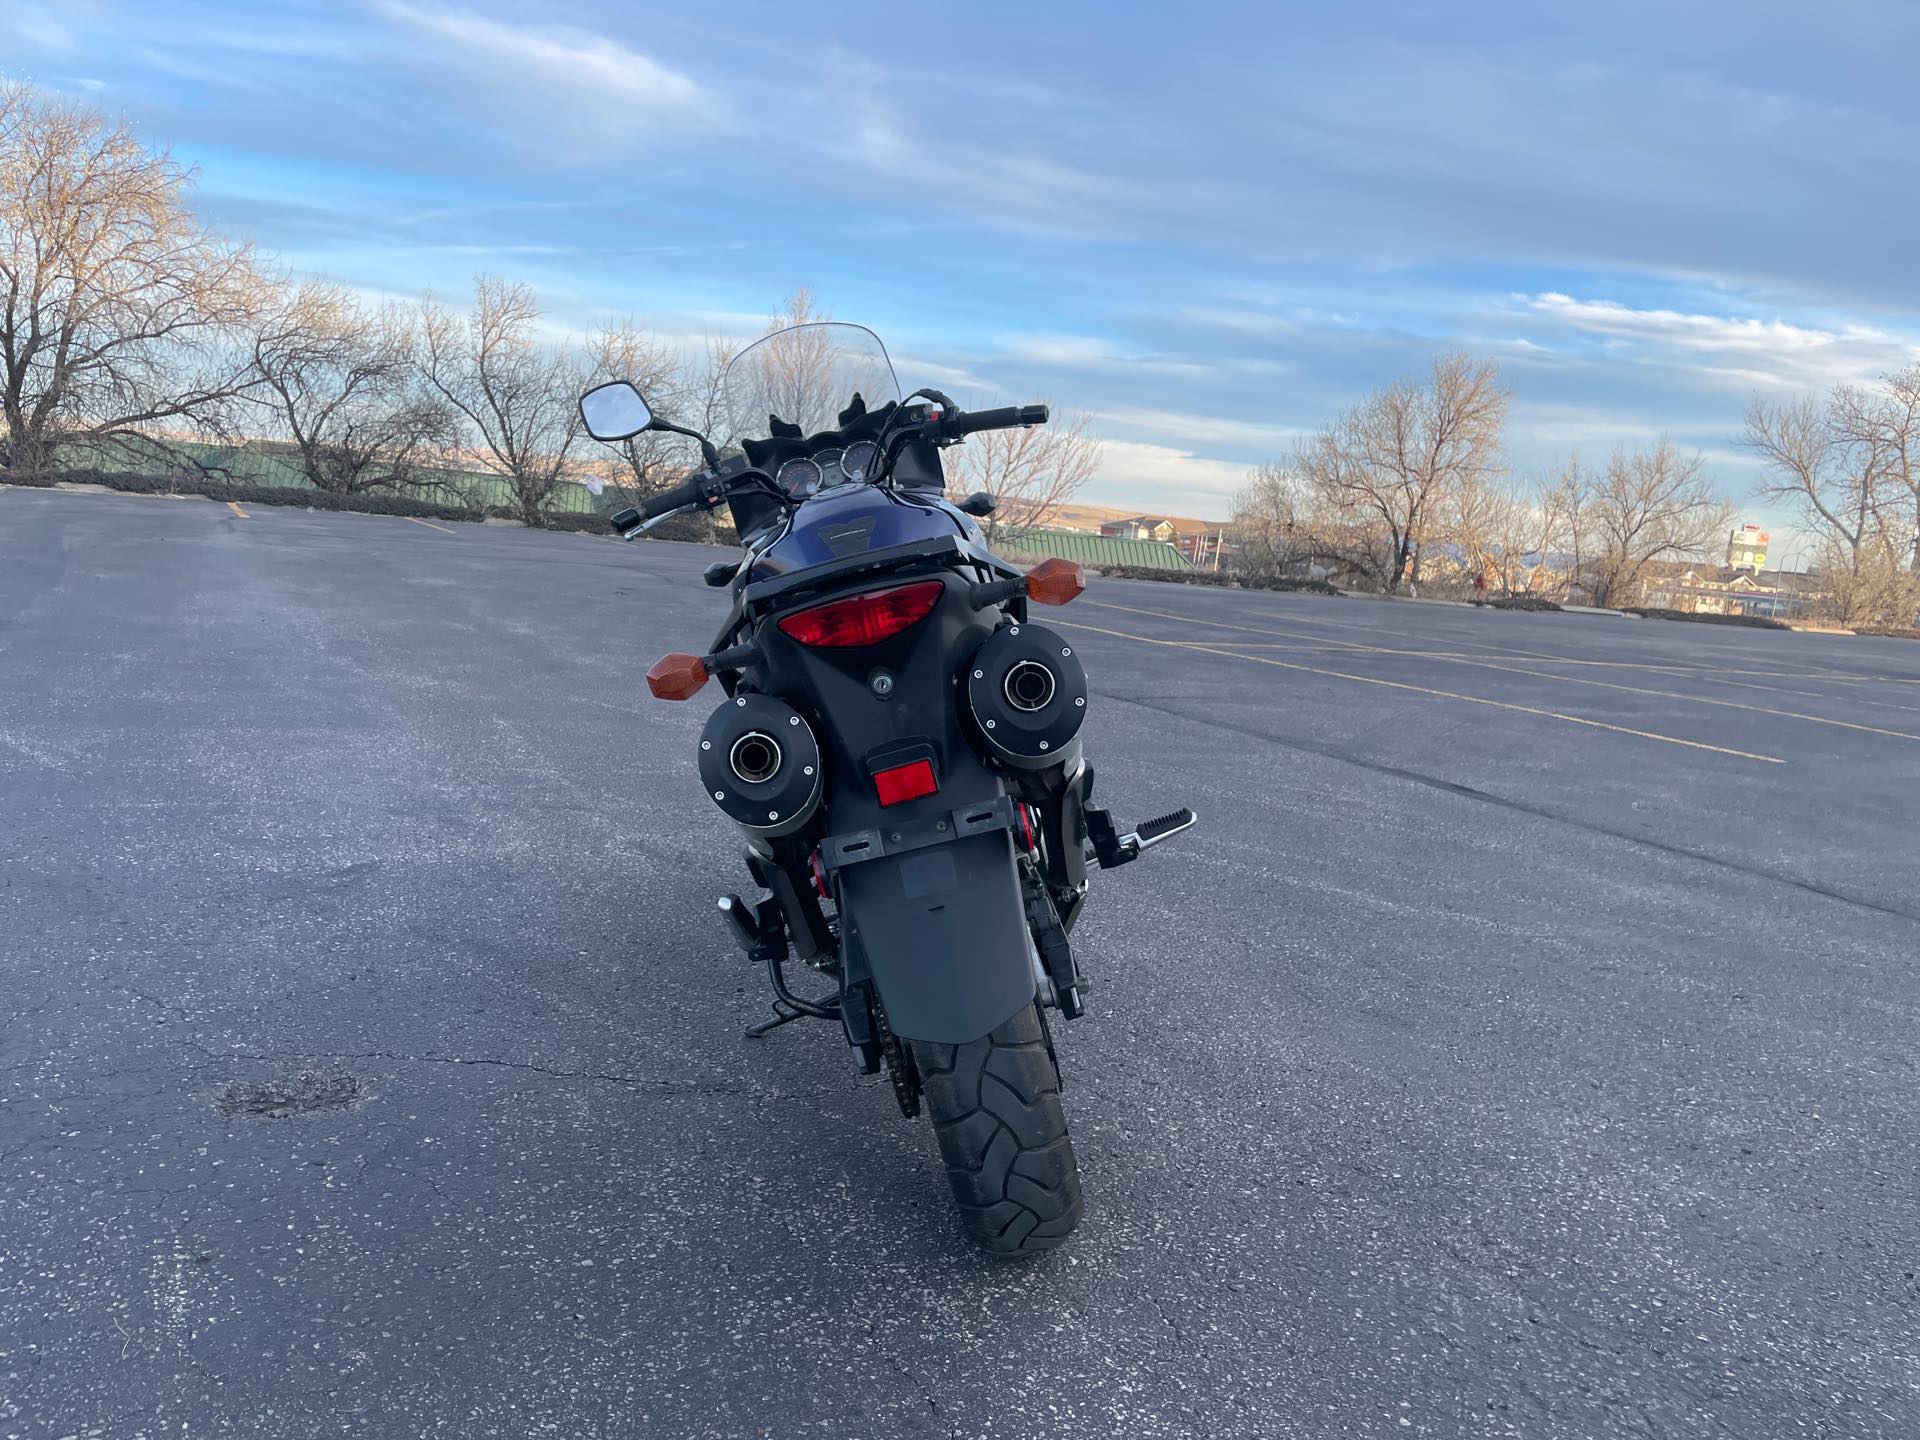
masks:
[[[1079,1162],[1039,1010],[970,1044],[912,1046],[966,1233],[1000,1258],[1062,1244],[1083,1210]]]

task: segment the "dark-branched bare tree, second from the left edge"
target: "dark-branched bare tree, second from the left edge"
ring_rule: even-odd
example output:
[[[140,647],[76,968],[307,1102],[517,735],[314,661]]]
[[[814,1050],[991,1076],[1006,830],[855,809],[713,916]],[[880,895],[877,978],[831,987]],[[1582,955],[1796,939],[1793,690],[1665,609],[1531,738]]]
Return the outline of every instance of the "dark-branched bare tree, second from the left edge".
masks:
[[[392,305],[369,309],[336,284],[288,292],[257,328],[252,397],[319,490],[426,490],[459,432],[451,405],[430,394],[415,326]]]

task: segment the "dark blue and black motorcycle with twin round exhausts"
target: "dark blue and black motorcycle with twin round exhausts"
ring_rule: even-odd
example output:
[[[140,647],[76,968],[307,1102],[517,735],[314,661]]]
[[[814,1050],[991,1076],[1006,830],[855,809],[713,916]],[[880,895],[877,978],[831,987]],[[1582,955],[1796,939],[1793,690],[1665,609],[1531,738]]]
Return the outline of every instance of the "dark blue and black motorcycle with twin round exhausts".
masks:
[[[927,1110],[968,1235],[995,1256],[1050,1250],[1083,1208],[1048,1016],[1085,1014],[1069,935],[1087,868],[1129,864],[1194,814],[1121,833],[1091,804],[1087,672],[1027,618],[1079,595],[1083,570],[1021,572],[981,536],[991,495],[947,499],[941,449],[1048,411],[902,399],[856,324],[778,330],[722,386],[751,436],[730,455],[624,380],[580,415],[603,442],[701,447],[697,474],[611,516],[620,536],[726,505],[745,549],[705,574],[732,597],[712,649],[662,657],[647,687],[685,701],[718,680],[726,695],[695,760],[758,887],[720,897],[774,991],[774,1018],[747,1033],[837,1023],[904,1116]],[[793,958],[831,987],[797,991]]]

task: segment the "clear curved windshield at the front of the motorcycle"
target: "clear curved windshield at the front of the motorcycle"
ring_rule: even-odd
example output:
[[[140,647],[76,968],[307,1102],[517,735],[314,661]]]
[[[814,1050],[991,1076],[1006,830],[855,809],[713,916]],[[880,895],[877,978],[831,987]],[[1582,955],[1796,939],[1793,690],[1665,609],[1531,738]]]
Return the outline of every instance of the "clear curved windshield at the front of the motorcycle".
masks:
[[[735,436],[839,430],[849,409],[877,411],[900,397],[893,361],[864,324],[793,324],[755,342],[720,376]],[[852,419],[852,417],[849,417]]]

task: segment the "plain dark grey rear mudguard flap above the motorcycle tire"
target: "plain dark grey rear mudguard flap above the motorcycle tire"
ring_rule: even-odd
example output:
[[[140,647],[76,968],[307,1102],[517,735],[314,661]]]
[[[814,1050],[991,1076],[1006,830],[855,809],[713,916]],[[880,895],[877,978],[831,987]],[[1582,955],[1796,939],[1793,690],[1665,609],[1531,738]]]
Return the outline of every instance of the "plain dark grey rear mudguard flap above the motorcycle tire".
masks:
[[[837,877],[841,941],[858,947],[900,1039],[968,1044],[1033,1004],[1006,829],[847,864]]]

